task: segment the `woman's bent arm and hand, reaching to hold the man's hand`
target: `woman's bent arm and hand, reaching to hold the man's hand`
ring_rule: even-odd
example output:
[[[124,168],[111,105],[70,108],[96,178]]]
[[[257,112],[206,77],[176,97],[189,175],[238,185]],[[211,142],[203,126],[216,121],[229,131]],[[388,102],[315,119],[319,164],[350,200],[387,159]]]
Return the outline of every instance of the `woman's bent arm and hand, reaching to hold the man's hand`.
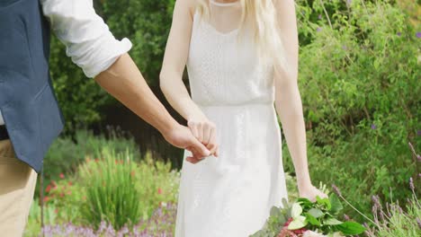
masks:
[[[215,126],[193,102],[183,83],[184,67],[192,37],[194,8],[194,0],[175,2],[173,24],[160,74],[160,86],[170,104],[187,119],[193,135],[207,145],[212,154],[216,154],[218,147]]]

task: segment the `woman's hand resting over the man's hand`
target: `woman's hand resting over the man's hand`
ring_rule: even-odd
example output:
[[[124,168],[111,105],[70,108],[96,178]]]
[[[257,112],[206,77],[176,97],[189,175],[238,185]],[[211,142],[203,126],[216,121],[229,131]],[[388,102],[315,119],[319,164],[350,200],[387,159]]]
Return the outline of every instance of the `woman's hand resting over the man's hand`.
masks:
[[[190,118],[187,121],[187,126],[193,136],[208,148],[210,154],[218,156],[217,131],[214,123],[210,122],[208,118],[198,117]]]

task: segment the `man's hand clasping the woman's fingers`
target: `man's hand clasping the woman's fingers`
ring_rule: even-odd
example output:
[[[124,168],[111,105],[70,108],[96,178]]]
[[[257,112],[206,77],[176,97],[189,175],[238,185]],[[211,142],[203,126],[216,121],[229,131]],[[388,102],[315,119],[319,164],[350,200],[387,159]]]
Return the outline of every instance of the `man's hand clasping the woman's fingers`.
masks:
[[[187,157],[188,162],[197,163],[210,156],[210,151],[193,136],[188,127],[177,125],[163,135],[171,145],[192,152],[193,156]]]

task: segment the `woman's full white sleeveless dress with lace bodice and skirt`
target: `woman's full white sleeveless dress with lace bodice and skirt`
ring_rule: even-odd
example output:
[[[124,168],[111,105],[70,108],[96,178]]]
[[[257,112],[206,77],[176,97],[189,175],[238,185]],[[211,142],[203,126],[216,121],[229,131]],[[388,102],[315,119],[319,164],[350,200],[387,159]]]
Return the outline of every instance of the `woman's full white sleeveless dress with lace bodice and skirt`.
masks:
[[[187,69],[192,98],[217,127],[219,157],[185,162],[176,237],[246,237],[287,198],[273,66],[252,37],[222,33],[194,15]],[[249,32],[245,32],[249,34]]]

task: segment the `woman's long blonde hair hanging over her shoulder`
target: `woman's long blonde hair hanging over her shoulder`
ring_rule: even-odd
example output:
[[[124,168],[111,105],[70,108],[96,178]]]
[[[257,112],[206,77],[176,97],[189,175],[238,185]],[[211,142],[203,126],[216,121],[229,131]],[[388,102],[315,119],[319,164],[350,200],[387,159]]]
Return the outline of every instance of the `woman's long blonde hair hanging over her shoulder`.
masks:
[[[272,59],[275,69],[286,71],[285,50],[273,0],[238,1],[242,7],[240,31],[246,22],[250,22],[260,59]],[[197,10],[201,15],[209,17],[209,0],[199,0]]]

